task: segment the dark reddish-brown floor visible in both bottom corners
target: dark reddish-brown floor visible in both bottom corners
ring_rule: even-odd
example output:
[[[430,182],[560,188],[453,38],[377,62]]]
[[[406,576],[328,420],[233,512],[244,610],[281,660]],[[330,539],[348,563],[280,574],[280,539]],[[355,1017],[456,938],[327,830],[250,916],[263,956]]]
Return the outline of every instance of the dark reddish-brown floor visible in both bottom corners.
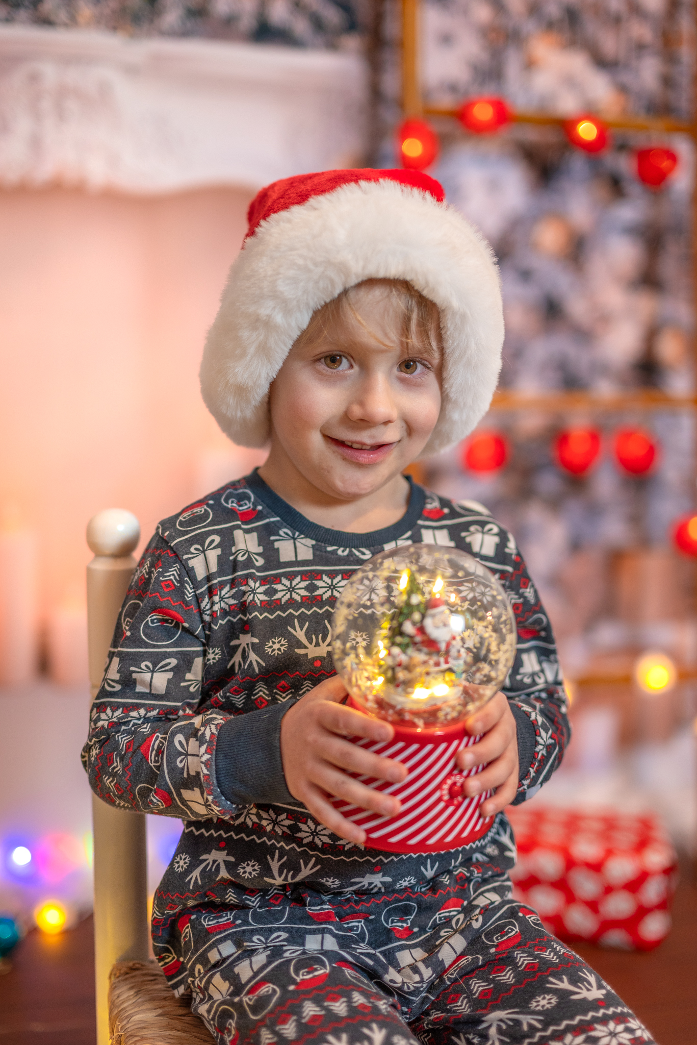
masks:
[[[659,1045],[697,1042],[697,887],[686,866],[674,927],[648,954],[577,947],[651,1028]],[[0,1045],[94,1045],[92,920],[47,937],[31,932],[0,975]]]

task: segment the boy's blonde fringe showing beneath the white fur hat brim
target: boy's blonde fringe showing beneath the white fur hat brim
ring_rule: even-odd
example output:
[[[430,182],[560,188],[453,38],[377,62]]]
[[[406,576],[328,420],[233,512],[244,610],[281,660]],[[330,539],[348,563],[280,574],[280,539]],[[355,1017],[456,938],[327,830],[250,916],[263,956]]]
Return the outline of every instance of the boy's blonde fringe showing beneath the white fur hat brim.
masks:
[[[442,338],[438,305],[424,298],[405,279],[369,279],[347,287],[338,297],[312,312],[309,323],[296,339],[295,344],[311,351],[323,342],[326,344],[327,341],[336,341],[338,332],[347,326],[347,321],[353,320],[378,345],[391,347],[370,329],[351,300],[353,292],[367,284],[379,284],[388,299],[397,305],[400,345],[408,349],[413,348],[420,355],[429,356],[435,361],[440,359]]]

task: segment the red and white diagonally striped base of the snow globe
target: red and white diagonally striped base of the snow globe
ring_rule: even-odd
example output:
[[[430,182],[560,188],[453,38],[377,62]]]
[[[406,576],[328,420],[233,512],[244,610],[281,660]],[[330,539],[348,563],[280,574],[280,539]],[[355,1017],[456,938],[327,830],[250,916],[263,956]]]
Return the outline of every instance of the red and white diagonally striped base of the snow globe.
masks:
[[[399,798],[399,814],[379,816],[343,798],[331,799],[347,820],[364,829],[366,845],[391,853],[438,853],[467,845],[486,834],[493,819],[482,818],[480,806],[492,792],[484,791],[473,798],[462,794],[465,777],[482,767],[460,770],[455,761],[460,748],[469,747],[479,737],[466,735],[463,723],[431,729],[396,725],[394,730],[393,740],[387,743],[357,738],[354,743],[375,754],[403,762],[409,769],[406,780],[389,784],[372,776],[351,775],[366,787]]]

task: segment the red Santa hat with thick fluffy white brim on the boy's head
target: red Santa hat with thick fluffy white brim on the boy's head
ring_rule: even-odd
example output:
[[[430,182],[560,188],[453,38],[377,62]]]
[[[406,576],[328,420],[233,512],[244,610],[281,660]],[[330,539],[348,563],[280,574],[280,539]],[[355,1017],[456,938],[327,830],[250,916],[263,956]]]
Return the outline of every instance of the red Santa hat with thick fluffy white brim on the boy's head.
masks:
[[[415,170],[325,170],[252,201],[201,365],[204,400],[241,446],[269,439],[269,387],[312,312],[365,279],[403,279],[440,309],[443,390],[424,454],[486,413],[504,320],[491,248]]]

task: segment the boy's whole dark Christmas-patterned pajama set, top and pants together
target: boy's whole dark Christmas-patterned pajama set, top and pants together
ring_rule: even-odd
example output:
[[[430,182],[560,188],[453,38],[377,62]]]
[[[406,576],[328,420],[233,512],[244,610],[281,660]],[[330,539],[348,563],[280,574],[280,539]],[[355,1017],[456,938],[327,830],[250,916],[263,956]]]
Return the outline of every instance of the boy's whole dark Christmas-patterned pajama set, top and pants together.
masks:
[[[153,907],[158,960],[218,1040],[239,1045],[650,1041],[512,900],[504,814],[424,859],[345,842],[287,791],[281,718],[333,674],[336,597],[371,556],[416,541],[473,554],[509,594],[516,803],[558,765],[568,726],[550,623],[513,537],[481,506],[413,484],[399,522],[347,534],[256,472],[229,483],[158,526],[83,751],[103,800],[183,820]]]

